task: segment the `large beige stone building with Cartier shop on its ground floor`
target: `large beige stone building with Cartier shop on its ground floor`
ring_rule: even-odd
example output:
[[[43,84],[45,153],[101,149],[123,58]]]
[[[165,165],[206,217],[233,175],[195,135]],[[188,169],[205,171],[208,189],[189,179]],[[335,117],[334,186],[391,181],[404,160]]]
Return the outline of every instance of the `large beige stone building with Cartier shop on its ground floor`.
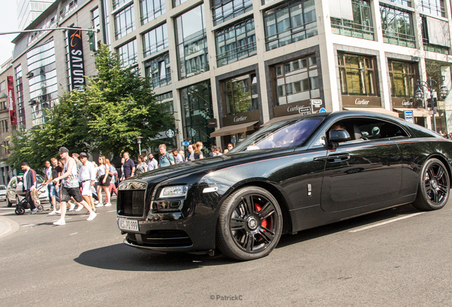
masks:
[[[112,0],[112,49],[172,104],[181,141],[237,143],[304,112],[367,109],[431,126],[416,80],[451,90],[451,3],[442,0]],[[438,85],[439,88],[439,85]],[[438,89],[436,90],[438,92]],[[438,131],[452,131],[450,97]],[[162,99],[163,101],[163,99]],[[451,128],[449,127],[451,126]],[[163,141],[163,140],[162,140]]]

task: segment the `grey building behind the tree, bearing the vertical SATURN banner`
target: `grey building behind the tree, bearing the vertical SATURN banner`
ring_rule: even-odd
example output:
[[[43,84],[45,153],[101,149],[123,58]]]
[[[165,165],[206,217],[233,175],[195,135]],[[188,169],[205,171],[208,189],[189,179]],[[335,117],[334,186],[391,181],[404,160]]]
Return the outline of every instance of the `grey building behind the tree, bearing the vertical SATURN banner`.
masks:
[[[58,97],[64,91],[82,87],[84,82],[84,78],[74,78],[71,71],[69,45],[74,38],[70,37],[70,30],[38,30],[97,26],[97,38],[102,41],[101,14],[102,8],[97,0],[57,0],[26,28],[36,29],[36,32],[21,33],[14,38],[12,65],[18,129],[31,129],[36,124],[43,124],[48,109],[58,104]],[[95,75],[87,31],[78,31],[76,36],[81,37],[79,47],[82,55],[77,64],[84,72],[81,75]]]

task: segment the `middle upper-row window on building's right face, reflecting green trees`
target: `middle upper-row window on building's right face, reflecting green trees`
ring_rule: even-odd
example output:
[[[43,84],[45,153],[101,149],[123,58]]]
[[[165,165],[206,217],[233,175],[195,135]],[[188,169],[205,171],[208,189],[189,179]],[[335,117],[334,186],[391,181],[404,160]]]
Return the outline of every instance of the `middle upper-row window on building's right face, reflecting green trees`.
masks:
[[[416,48],[411,12],[380,5],[384,43]]]

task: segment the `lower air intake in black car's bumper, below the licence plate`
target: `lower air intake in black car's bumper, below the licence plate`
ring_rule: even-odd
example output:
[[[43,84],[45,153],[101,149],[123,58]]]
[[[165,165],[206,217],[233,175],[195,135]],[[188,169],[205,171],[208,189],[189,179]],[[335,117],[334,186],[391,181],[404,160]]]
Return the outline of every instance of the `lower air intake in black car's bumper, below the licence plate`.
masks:
[[[140,237],[139,237],[140,236]],[[146,235],[129,233],[130,242],[147,247],[190,247],[190,237],[183,230],[152,230]]]

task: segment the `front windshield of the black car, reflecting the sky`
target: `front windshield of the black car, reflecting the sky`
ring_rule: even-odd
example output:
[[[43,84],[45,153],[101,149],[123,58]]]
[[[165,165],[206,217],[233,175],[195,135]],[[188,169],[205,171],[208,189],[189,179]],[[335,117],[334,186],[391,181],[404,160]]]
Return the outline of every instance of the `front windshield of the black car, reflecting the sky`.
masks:
[[[271,124],[249,136],[230,152],[237,153],[301,145],[322,120],[322,118],[305,118]]]

